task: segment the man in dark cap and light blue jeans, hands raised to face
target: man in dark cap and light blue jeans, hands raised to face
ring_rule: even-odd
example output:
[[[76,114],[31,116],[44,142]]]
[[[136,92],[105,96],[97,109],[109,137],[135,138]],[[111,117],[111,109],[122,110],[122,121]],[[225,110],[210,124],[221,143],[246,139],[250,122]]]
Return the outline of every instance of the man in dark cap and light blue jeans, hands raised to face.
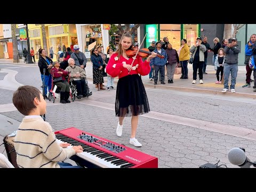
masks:
[[[237,39],[231,38],[232,43],[228,43],[225,46],[225,65],[224,65],[224,89],[222,93],[226,93],[228,91],[228,78],[231,73],[231,84],[230,91],[231,93],[235,93],[235,85],[236,85],[236,77],[238,71],[238,53],[241,51],[241,48],[237,45]],[[228,41],[230,42],[230,40]]]

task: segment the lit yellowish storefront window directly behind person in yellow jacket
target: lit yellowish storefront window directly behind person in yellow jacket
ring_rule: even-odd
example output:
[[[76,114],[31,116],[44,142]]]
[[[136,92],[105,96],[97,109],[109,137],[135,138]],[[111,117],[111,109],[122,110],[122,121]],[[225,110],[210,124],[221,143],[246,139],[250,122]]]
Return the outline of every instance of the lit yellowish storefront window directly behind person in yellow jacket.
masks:
[[[198,24],[183,24],[182,25],[182,34],[183,37],[187,39],[187,44],[189,47],[196,44],[196,38],[200,36],[199,34],[199,25]]]

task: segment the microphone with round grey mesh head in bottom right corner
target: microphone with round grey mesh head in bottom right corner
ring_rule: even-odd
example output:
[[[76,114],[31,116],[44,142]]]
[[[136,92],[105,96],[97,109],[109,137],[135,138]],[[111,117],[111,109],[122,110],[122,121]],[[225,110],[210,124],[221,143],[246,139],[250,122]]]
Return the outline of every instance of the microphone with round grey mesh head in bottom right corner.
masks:
[[[241,168],[250,168],[251,165],[256,166],[256,163],[251,162],[245,155],[245,150],[235,147],[228,151],[228,160],[234,165],[238,165]]]

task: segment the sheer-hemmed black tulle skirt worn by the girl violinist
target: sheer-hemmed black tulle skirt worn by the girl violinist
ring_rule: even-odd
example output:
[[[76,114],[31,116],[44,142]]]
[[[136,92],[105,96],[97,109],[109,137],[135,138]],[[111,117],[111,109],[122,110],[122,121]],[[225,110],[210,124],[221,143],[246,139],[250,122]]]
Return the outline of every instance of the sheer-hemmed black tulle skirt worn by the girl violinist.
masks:
[[[118,80],[115,110],[118,117],[137,116],[150,111],[146,90],[138,74]]]

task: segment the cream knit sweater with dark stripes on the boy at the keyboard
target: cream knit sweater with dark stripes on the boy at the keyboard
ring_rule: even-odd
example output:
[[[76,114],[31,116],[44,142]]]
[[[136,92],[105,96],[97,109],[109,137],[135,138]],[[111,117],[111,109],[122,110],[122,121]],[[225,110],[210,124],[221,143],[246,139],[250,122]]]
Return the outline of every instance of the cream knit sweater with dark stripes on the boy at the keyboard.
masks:
[[[18,166],[59,168],[57,163],[75,155],[75,150],[60,147],[55,139],[51,125],[42,117],[23,118],[14,141]]]

